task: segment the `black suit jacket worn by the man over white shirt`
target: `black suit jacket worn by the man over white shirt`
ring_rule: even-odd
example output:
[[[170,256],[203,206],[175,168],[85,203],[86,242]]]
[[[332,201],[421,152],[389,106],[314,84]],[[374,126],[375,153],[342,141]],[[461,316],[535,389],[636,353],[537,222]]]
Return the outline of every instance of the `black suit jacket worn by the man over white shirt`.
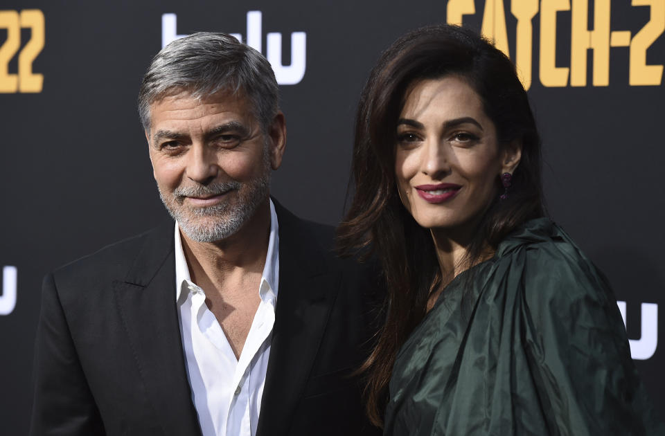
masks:
[[[279,290],[258,436],[371,435],[361,381],[371,275],[332,228],[276,205]],[[44,279],[31,435],[200,435],[178,325],[173,224]]]

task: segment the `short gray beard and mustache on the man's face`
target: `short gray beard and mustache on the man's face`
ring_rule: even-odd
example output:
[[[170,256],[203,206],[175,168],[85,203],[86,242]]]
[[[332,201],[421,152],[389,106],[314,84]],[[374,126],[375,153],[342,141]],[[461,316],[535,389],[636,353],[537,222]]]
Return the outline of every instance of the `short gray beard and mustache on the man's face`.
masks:
[[[166,198],[159,185],[159,198],[166,206],[168,213],[178,221],[180,229],[195,242],[215,242],[236,233],[254,216],[256,209],[269,194],[270,167],[258,179],[245,184],[245,192],[238,197],[238,206],[231,208],[226,201],[203,208],[188,208],[184,206],[184,197],[210,197],[231,190],[238,191],[242,183],[237,181],[218,182],[211,185],[196,185],[176,188],[172,197]],[[199,221],[208,217],[207,222]]]

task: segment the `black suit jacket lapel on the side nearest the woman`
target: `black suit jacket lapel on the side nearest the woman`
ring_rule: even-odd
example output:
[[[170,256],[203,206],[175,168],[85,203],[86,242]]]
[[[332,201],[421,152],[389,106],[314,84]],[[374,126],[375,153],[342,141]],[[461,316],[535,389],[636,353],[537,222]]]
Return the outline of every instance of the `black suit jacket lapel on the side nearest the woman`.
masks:
[[[257,436],[287,434],[341,280],[303,232],[302,221],[276,201],[275,206],[279,288]]]

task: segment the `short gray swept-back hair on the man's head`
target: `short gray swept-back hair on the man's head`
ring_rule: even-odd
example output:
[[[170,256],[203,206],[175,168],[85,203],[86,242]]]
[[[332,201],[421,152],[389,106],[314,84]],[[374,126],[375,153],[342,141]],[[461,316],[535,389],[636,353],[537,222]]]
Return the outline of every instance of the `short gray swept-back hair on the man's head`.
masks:
[[[225,33],[193,33],[171,42],[152,58],[139,91],[143,129],[150,130],[150,105],[181,91],[194,98],[218,91],[244,95],[264,131],[279,110],[277,81],[269,62]]]

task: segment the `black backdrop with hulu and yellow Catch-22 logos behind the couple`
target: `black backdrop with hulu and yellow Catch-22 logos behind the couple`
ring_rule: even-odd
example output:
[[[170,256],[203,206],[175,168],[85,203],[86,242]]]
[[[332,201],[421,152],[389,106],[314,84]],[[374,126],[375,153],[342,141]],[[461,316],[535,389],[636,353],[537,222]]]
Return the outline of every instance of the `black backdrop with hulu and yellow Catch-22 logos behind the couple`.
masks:
[[[275,56],[269,34],[281,35],[281,81],[296,83],[281,86],[287,153],[272,192],[335,224],[369,69],[406,30],[460,18],[531,78],[549,211],[625,302],[633,357],[665,411],[665,0],[2,0],[0,433],[27,430],[44,273],[165,213],[135,107],[163,38],[249,33]]]

